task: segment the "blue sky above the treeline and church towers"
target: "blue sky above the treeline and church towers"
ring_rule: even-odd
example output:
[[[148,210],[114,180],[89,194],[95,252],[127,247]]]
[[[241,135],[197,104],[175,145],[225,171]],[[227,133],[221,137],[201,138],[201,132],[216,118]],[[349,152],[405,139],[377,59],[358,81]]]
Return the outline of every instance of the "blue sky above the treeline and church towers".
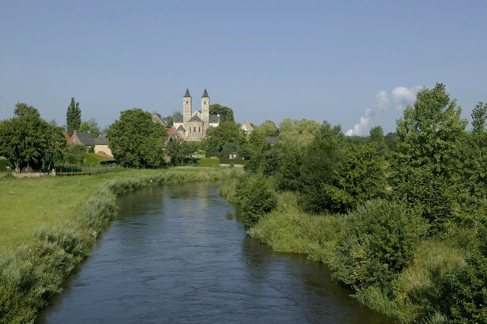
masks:
[[[328,120],[367,134],[442,82],[487,101],[486,1],[1,1],[0,119],[26,102],[100,126],[132,107],[210,103],[235,119]]]

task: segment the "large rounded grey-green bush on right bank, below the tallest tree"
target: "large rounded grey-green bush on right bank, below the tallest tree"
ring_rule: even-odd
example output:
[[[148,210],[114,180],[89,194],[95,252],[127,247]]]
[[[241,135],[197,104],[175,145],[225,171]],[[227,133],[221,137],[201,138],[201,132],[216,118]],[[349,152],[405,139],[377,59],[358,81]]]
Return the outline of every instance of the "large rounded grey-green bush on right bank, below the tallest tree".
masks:
[[[368,201],[345,218],[331,266],[345,284],[388,286],[414,257],[428,225],[403,202]]]

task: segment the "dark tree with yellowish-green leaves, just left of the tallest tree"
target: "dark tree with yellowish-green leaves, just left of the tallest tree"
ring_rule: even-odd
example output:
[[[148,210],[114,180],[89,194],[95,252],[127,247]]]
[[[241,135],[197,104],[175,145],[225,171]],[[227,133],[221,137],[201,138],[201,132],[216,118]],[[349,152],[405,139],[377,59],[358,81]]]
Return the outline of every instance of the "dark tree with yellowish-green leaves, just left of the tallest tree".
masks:
[[[324,184],[330,200],[330,210],[345,212],[373,198],[385,197],[386,164],[377,152],[375,142],[352,144],[334,170],[332,184]]]

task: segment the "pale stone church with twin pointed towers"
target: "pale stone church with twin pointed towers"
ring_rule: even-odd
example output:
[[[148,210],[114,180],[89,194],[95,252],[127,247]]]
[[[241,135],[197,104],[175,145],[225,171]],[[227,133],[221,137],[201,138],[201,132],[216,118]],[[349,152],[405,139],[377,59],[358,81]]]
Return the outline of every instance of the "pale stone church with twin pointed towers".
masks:
[[[183,96],[183,114],[174,116],[173,128],[185,141],[201,141],[207,129],[220,125],[220,115],[210,115],[210,97],[205,89],[201,96],[201,110],[194,113],[191,108],[191,95],[189,89]]]

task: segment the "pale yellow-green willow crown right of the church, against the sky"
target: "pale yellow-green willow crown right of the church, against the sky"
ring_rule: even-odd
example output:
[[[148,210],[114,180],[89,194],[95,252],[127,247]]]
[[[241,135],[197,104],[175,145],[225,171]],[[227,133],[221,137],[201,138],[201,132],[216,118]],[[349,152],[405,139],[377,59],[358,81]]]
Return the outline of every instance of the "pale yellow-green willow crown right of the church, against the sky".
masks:
[[[302,149],[311,144],[319,129],[320,125],[315,120],[286,118],[279,123],[279,139],[290,148]]]

